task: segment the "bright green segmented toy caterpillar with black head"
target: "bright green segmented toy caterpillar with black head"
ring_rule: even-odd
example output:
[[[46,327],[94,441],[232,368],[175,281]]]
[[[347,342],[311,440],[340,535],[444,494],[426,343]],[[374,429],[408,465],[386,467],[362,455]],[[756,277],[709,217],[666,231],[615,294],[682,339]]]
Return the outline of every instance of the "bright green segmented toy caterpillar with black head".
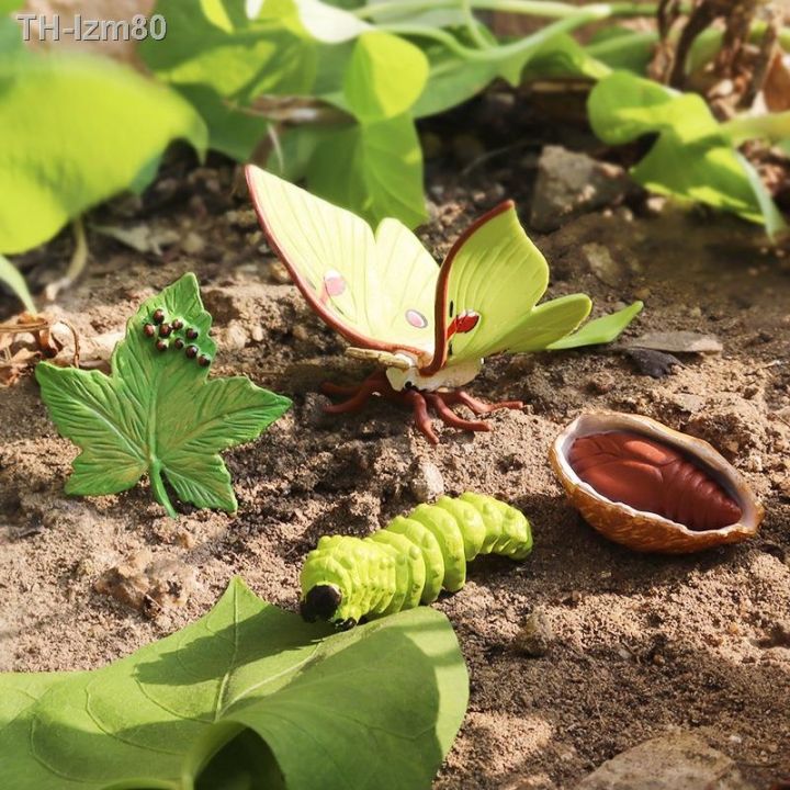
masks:
[[[302,617],[350,628],[460,590],[478,554],[523,560],[531,551],[529,521],[516,508],[483,494],[443,496],[368,538],[321,538],[302,568]]]

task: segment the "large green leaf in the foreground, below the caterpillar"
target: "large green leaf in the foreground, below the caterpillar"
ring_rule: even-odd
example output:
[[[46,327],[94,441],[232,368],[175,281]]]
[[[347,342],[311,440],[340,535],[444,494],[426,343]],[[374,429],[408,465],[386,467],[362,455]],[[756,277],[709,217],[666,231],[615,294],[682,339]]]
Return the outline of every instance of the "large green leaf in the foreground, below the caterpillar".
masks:
[[[330,635],[235,579],[110,666],[0,675],[0,787],[427,790],[467,693],[436,610]]]

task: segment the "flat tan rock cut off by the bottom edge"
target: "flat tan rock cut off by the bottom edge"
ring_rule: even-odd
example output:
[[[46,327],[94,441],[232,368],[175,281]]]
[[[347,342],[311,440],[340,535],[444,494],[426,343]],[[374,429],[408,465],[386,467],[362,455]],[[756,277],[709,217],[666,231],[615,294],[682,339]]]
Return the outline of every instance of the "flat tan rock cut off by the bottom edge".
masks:
[[[607,760],[576,790],[756,790],[735,761],[701,737],[676,732]]]

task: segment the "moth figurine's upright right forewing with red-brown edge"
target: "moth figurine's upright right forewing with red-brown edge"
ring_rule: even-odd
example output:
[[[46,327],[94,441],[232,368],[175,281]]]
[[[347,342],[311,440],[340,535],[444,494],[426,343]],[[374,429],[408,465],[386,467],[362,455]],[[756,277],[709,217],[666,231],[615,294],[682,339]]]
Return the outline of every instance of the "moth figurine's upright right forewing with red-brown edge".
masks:
[[[549,266],[508,201],[474,223],[439,273],[436,353],[422,372],[497,353],[549,284]]]

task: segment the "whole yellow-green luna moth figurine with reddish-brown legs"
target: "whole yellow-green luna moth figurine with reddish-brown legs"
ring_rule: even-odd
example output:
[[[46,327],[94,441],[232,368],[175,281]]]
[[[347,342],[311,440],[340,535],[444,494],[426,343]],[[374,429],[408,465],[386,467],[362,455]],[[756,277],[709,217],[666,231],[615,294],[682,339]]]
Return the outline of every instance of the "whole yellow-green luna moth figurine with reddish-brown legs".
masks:
[[[253,165],[247,183],[269,245],[311,307],[352,345],[350,356],[383,368],[356,387],[325,384],[326,394],[347,398],[327,407],[330,413],[360,409],[380,395],[411,406],[432,443],[429,407],[449,426],[490,430],[450,408],[483,415],[522,407],[518,400],[485,404],[460,388],[485,357],[610,342],[642,309],[634,302],[571,334],[591,302],[572,294],[538,305],[549,266],[511,201],[474,223],[437,266],[397,219],[384,219],[373,233],[351,212]]]

